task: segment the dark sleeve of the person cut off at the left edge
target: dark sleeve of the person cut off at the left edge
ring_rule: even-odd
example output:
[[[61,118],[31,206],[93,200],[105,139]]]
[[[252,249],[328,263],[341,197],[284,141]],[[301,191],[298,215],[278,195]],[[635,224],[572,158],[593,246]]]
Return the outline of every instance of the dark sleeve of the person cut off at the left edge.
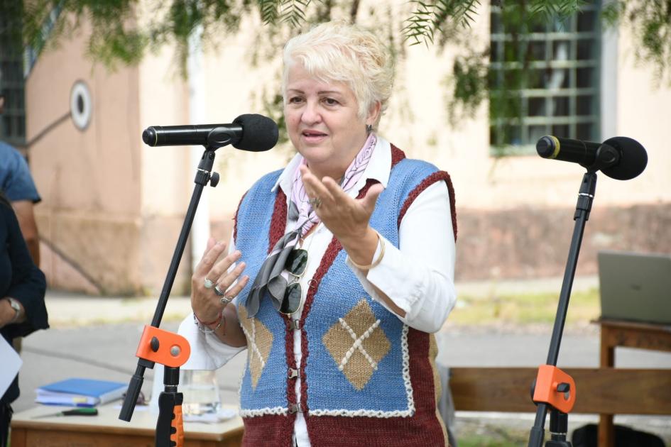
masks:
[[[11,284],[5,296],[16,299],[26,311],[26,321],[21,324],[9,324],[4,327],[4,331],[9,338],[25,337],[38,329],[49,327],[44,302],[47,285],[44,273],[33,263],[28,253],[16,215],[8,206],[0,205],[0,207],[7,225],[7,250],[12,268]]]

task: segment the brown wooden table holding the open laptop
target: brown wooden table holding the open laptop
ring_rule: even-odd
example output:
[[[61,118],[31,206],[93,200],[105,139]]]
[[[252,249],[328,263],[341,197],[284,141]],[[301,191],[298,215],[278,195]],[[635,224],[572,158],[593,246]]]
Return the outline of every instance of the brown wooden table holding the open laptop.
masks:
[[[594,322],[601,326],[601,368],[615,367],[615,348],[618,346],[671,352],[671,326],[609,319]],[[641,395],[641,404],[645,404],[647,398]],[[613,413],[601,413],[599,447],[613,447],[613,432]]]

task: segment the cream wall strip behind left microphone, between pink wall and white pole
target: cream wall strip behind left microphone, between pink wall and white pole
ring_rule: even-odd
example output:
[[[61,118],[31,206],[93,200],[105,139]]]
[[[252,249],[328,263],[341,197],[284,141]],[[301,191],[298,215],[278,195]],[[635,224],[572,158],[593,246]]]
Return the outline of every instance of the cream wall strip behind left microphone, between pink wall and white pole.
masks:
[[[184,79],[175,71],[175,55],[170,48],[150,55],[138,67],[138,126],[129,137],[138,145],[142,197],[141,292],[158,294],[163,287],[170,260],[184,223],[194,187],[189,148],[152,148],[141,140],[148,126],[187,123],[188,92]],[[182,255],[173,292],[190,293],[190,251]]]

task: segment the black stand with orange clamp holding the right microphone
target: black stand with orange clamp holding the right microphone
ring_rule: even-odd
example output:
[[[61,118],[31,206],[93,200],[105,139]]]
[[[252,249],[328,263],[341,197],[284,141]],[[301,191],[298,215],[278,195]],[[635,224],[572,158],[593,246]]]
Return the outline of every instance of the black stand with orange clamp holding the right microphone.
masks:
[[[550,349],[547,353],[547,365],[540,365],[538,376],[532,385],[532,400],[538,405],[533,428],[530,431],[528,447],[540,447],[545,438],[545,416],[550,409],[550,441],[545,443],[546,447],[571,447],[566,440],[568,431],[568,413],[573,408],[576,398],[575,382],[572,377],[556,367],[559,356],[560,344],[562,343],[562,331],[569,307],[569,297],[575,277],[578,254],[582,243],[584,228],[589,219],[591,204],[596,192],[595,166],[587,168],[582,177],[582,183],[578,192],[578,201],[573,219],[575,226],[569,255],[564,270],[564,281],[557,306],[555,326],[550,338]]]

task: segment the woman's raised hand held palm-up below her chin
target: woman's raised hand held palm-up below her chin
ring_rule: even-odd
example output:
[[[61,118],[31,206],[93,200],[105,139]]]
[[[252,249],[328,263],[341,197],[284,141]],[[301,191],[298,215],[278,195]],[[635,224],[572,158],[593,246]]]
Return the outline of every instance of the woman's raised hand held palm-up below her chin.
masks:
[[[300,166],[300,174],[307,195],[320,201],[313,206],[315,213],[343,245],[370,235],[369,221],[384,189],[381,184],[373,184],[362,199],[352,199],[331,177],[320,180],[305,165]]]

